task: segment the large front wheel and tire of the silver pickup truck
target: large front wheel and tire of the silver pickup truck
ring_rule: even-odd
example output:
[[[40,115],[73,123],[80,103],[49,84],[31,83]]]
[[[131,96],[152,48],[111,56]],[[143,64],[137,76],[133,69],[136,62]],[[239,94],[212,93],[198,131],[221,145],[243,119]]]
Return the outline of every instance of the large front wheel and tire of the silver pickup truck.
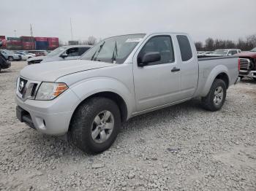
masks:
[[[116,140],[121,114],[109,98],[95,97],[84,102],[70,122],[72,142],[84,152],[96,154],[108,149]]]

